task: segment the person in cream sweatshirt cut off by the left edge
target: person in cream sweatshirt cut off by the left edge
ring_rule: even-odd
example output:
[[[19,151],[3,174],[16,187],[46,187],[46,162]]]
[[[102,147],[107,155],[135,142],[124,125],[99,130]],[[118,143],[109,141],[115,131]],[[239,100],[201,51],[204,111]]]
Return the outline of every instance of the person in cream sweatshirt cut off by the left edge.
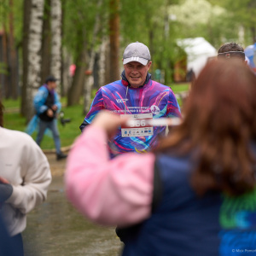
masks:
[[[26,229],[26,213],[46,200],[51,173],[46,156],[32,137],[3,128],[1,102],[0,141],[0,214],[10,242],[22,256],[21,232]]]

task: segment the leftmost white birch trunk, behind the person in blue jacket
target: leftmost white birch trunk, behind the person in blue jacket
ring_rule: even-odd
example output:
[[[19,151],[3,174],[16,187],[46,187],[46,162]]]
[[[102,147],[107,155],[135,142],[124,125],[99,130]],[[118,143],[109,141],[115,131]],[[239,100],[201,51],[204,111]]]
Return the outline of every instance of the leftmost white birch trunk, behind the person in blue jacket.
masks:
[[[41,46],[43,29],[44,0],[32,0],[31,19],[28,35],[28,68],[26,84],[26,120],[34,113],[33,97],[38,91],[41,73]]]

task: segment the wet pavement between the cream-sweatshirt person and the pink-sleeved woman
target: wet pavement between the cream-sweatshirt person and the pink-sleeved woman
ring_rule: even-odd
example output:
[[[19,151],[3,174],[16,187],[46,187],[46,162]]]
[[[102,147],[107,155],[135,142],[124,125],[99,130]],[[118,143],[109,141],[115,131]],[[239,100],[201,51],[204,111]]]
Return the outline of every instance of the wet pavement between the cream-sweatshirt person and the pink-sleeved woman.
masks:
[[[63,174],[66,160],[47,155],[53,181],[48,198],[27,214],[23,232],[26,256],[119,255],[122,243],[114,227],[102,227],[85,219],[67,201]]]

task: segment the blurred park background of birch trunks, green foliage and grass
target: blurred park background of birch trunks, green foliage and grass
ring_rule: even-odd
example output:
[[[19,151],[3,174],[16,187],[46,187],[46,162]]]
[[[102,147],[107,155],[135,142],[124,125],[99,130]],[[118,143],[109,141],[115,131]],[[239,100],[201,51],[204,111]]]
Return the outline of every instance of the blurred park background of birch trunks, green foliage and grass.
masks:
[[[213,49],[226,42],[254,44],[256,1],[0,0],[4,126],[25,131],[32,98],[53,74],[71,119],[59,122],[61,144],[72,144],[96,90],[120,79],[122,53],[136,41],[148,45],[153,79],[179,96],[189,90],[189,56],[180,44],[188,38],[203,38]],[[180,97],[178,102],[182,107]],[[54,148],[53,140],[44,137],[41,147]]]

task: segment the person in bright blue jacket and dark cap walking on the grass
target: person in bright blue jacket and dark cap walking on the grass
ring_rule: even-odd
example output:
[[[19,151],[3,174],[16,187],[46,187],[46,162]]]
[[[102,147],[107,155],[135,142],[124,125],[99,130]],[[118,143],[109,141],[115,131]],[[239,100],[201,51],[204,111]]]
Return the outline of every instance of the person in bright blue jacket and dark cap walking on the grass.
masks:
[[[44,137],[44,131],[49,129],[52,132],[55,142],[56,159],[61,160],[66,158],[67,154],[61,152],[61,139],[56,122],[56,114],[61,111],[61,102],[55,91],[56,86],[55,77],[49,76],[45,80],[45,84],[38,89],[38,93],[34,97],[33,102],[39,117],[36,142],[40,146]]]

